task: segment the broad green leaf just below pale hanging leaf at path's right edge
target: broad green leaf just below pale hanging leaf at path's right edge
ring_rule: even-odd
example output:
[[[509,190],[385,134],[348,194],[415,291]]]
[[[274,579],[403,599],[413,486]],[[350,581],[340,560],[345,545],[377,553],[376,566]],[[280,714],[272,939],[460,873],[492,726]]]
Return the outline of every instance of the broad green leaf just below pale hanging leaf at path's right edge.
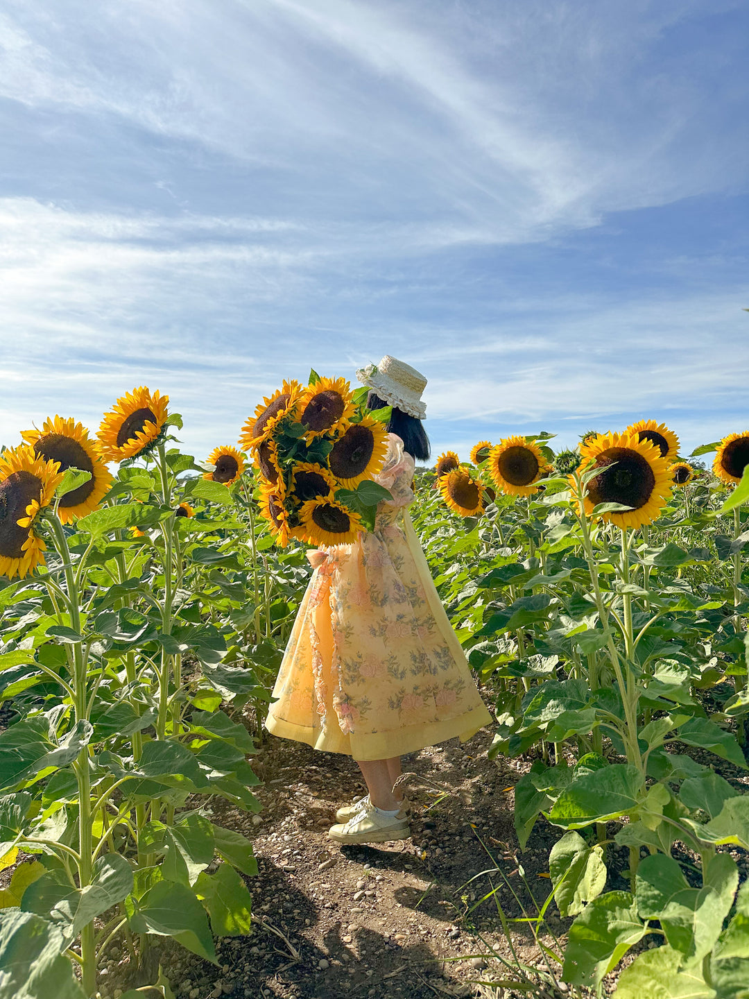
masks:
[[[569,927],[562,979],[595,988],[646,932],[628,891],[599,895]]]

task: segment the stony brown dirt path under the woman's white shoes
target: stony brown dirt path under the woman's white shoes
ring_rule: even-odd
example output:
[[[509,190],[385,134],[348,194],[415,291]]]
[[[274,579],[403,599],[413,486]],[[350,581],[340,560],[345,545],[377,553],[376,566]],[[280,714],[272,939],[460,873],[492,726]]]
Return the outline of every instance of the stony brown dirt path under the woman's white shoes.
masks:
[[[269,736],[253,761],[264,781],[263,812],[228,810],[217,821],[254,840],[260,867],[250,882],[254,912],[286,940],[259,925],[253,937],[222,941],[218,981],[217,969],[175,954],[182,965],[178,975],[172,968],[178,995],[218,997],[221,986],[221,994],[245,999],[519,996],[477,984],[505,977],[489,948],[507,960],[511,954],[497,933],[495,900],[470,907],[497,886],[509,917],[522,914],[513,892],[530,902],[512,845],[511,786],[518,773],[506,761],[487,759],[489,743],[490,734],[479,733],[465,745],[454,739],[406,757],[404,770],[416,775],[411,840],[342,848],[327,832],[336,808],[365,792],[356,764]],[[525,880],[539,899],[550,887],[538,876],[547,851],[539,842],[522,855]],[[507,883],[496,872],[471,881],[493,871],[493,858]],[[525,931],[523,939],[518,928],[517,937],[517,958],[543,967],[532,935]]]

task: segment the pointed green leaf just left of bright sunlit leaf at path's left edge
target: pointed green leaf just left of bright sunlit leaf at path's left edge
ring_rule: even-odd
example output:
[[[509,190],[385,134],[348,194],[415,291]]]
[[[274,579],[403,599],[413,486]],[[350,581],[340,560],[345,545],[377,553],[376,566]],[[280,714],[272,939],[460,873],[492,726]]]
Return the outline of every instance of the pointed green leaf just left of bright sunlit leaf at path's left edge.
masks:
[[[203,906],[192,888],[184,884],[157,881],[142,899],[134,900],[129,922],[134,933],[174,937],[199,957],[218,963]]]

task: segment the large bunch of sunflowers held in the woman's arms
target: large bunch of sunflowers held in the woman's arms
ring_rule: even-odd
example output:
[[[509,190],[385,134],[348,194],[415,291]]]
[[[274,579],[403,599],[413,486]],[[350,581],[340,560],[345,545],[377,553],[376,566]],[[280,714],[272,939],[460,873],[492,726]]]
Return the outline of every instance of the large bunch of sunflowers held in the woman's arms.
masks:
[[[313,371],[306,387],[285,381],[243,427],[240,445],[260,471],[261,513],[279,544],[346,544],[374,529],[377,503],[390,499],[374,481],[390,408],[368,409],[368,395]]]

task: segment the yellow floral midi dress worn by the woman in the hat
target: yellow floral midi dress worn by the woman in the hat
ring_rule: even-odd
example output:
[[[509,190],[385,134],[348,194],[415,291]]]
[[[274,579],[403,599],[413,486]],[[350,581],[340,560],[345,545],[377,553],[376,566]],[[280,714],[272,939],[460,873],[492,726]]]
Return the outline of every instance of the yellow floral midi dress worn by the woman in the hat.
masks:
[[[408,516],[413,459],[389,435],[377,482],[392,501],[317,565],[287,645],[266,727],[355,759],[387,759],[491,721]]]

